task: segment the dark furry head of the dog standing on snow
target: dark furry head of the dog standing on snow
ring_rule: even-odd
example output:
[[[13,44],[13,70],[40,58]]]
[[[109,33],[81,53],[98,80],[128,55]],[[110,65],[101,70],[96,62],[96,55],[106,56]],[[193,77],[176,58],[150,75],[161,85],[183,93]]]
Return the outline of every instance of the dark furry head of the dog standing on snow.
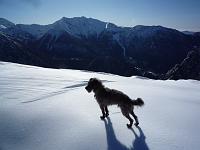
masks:
[[[102,87],[102,83],[99,79],[97,78],[91,78],[89,81],[88,81],[88,84],[87,86],[85,87],[85,89],[90,93],[92,90],[96,90],[100,87]]]

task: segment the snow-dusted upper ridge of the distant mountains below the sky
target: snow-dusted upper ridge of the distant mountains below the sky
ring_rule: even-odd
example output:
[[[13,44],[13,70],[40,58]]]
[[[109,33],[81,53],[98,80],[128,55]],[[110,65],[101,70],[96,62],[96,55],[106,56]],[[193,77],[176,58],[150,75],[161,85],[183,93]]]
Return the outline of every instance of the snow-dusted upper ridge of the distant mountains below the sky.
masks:
[[[76,37],[89,37],[91,35],[99,35],[103,31],[110,31],[114,34],[126,35],[126,38],[133,34],[133,36],[147,38],[154,36],[159,31],[175,31],[162,26],[143,26],[137,25],[135,27],[119,27],[113,23],[103,22],[93,18],[86,17],[74,17],[66,18],[63,17],[58,21],[48,25],[38,24],[14,24],[4,18],[0,18],[0,25],[2,28],[15,27],[18,30],[22,30],[32,34],[33,36],[40,38],[49,30],[59,30],[68,32],[68,34]],[[177,31],[178,32],[178,31]],[[53,33],[53,32],[52,32]],[[183,31],[184,34],[189,34],[189,31]],[[192,32],[194,34],[194,32]],[[119,40],[119,39],[118,39]]]

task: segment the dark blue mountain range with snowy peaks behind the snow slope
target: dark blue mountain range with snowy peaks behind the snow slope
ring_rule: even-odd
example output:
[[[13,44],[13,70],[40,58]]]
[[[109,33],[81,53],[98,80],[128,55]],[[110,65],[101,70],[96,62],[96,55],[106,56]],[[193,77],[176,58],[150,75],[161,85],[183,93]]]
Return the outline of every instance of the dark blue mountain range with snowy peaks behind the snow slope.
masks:
[[[0,18],[0,60],[42,67],[159,78],[199,47],[199,32],[162,26],[120,27],[86,17],[26,25]]]

